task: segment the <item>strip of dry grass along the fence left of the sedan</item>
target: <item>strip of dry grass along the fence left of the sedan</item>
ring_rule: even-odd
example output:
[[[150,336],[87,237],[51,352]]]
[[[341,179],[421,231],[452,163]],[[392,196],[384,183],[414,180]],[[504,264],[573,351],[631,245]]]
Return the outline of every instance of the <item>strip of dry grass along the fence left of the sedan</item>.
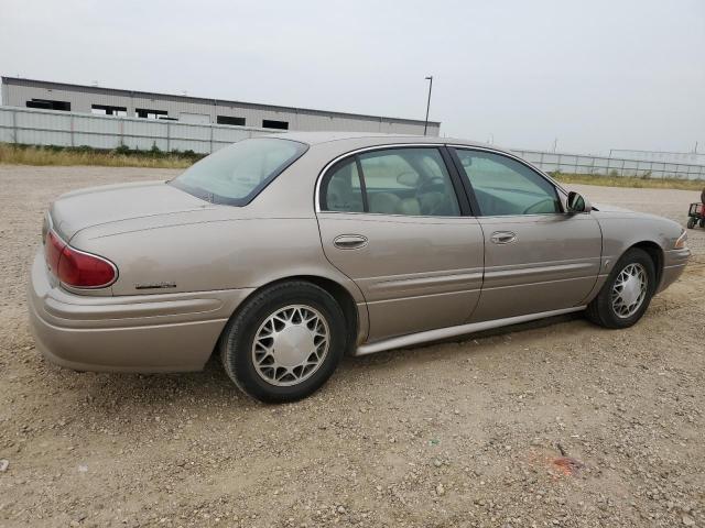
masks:
[[[0,164],[14,165],[186,168],[202,157],[192,151],[165,153],[156,147],[150,151],[131,151],[124,147],[102,151],[86,146],[59,147],[0,143]]]

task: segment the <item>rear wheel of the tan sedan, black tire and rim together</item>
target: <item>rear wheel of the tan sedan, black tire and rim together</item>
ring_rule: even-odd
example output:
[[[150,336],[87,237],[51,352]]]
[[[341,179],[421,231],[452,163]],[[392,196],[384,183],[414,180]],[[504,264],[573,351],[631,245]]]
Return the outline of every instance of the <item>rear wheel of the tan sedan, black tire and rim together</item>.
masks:
[[[230,380],[252,398],[275,404],[316,392],[340,362],[346,334],[343,310],[333,296],[296,280],[248,299],[218,346]]]

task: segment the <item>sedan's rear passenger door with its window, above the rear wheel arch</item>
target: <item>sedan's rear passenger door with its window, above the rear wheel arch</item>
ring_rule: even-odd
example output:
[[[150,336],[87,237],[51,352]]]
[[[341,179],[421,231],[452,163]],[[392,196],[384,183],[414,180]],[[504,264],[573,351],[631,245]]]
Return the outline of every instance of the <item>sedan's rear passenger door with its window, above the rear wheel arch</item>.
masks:
[[[368,342],[460,324],[477,305],[482,232],[446,163],[435,145],[387,146],[322,175],[323,250],[365,296]]]

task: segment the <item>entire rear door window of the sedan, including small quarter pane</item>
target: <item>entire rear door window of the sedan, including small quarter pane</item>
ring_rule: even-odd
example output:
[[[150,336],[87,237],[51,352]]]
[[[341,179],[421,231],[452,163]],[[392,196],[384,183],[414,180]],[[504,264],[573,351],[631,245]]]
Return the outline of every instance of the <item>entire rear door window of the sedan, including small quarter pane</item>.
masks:
[[[433,147],[384,148],[349,157],[326,174],[322,197],[321,207],[326,211],[460,215],[451,176]]]

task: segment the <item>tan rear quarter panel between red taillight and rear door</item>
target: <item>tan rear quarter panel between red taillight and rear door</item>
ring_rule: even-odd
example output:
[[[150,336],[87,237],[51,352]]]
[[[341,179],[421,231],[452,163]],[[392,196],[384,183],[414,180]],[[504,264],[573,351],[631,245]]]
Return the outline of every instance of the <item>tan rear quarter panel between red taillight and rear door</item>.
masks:
[[[280,278],[315,275],[359,290],[323,254],[315,218],[207,221],[91,237],[72,245],[110,258],[119,278],[113,295],[257,288]],[[164,289],[139,285],[169,283]]]

